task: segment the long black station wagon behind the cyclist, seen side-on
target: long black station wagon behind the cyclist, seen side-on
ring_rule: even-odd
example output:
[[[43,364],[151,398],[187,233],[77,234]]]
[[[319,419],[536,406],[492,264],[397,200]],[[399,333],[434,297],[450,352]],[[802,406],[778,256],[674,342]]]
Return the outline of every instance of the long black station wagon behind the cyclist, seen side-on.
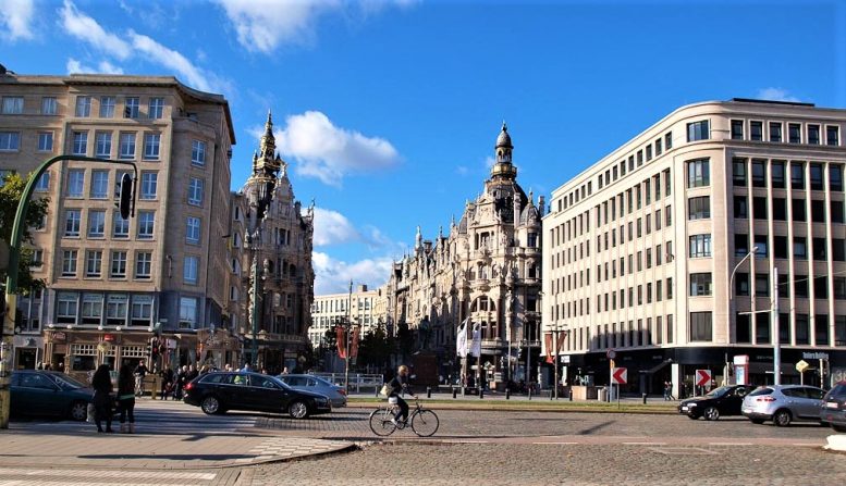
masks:
[[[200,375],[185,385],[184,401],[208,414],[252,410],[305,419],[332,411],[329,399],[320,394],[295,390],[275,376],[249,372]]]

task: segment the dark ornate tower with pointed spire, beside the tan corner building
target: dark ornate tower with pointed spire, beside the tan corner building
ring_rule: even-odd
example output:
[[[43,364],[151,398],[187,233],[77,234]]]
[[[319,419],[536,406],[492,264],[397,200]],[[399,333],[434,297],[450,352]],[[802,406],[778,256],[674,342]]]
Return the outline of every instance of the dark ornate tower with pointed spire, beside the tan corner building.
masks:
[[[285,366],[293,370],[309,346],[315,212],[314,204],[304,209],[294,199],[269,112],[259,151],[253,155],[253,173],[233,196],[233,267],[243,277],[230,297],[244,316],[240,326],[244,361],[271,373]]]

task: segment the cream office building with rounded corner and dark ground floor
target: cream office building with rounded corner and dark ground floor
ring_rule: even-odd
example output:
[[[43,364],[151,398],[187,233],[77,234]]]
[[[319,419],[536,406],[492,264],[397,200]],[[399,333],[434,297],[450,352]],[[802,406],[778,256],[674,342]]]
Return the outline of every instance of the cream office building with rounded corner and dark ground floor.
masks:
[[[678,396],[699,369],[733,382],[735,362],[772,383],[775,339],[782,383],[800,360],[806,383],[842,375],[844,130],[842,109],[690,104],[555,189],[542,311],[567,332],[564,378],[606,385],[614,350],[633,390]]]

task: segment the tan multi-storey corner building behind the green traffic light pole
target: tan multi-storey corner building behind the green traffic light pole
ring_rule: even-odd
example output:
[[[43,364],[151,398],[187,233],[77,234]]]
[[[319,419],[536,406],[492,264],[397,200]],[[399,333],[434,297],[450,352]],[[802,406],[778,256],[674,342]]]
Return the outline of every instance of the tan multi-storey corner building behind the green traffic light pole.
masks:
[[[85,374],[160,351],[198,359],[200,329],[229,331],[228,101],[173,77],[0,75],[0,171],[28,174],[60,153],[134,162],[135,214],[115,187],[132,167],[65,161],[39,179],[50,200],[33,230],[44,292],[19,299],[15,365]],[[159,338],[148,348],[151,338]],[[236,339],[223,339],[229,350]]]

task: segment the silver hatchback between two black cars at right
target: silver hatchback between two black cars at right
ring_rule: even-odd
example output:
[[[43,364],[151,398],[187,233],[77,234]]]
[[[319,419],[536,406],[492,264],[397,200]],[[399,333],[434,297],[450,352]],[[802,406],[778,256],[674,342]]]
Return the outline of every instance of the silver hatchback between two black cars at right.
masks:
[[[794,421],[820,421],[820,407],[825,391],[816,386],[768,385],[744,399],[744,416],[753,424],[772,420],[785,427]]]

